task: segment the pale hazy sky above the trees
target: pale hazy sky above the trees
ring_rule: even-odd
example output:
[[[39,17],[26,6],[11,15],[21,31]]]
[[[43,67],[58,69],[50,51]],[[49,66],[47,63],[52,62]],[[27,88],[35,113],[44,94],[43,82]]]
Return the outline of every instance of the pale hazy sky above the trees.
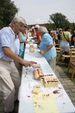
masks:
[[[75,0],[12,0],[19,8],[18,16],[27,24],[46,23],[49,15],[62,13],[70,22],[75,22]]]

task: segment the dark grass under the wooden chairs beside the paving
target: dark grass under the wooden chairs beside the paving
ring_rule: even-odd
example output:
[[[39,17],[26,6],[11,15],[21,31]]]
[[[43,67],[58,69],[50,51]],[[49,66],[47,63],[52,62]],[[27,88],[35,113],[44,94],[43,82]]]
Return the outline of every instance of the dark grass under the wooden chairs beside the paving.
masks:
[[[58,63],[58,65],[63,69],[63,71],[66,73],[66,75],[67,75],[69,78],[71,78],[71,75],[72,75],[72,68],[70,67],[69,73],[67,74],[68,64],[69,64],[69,62],[68,62],[68,63],[65,63],[63,57],[61,57],[61,59],[60,59],[60,61],[59,61],[59,63]],[[75,83],[75,74],[74,74],[74,78],[73,78],[72,81]]]

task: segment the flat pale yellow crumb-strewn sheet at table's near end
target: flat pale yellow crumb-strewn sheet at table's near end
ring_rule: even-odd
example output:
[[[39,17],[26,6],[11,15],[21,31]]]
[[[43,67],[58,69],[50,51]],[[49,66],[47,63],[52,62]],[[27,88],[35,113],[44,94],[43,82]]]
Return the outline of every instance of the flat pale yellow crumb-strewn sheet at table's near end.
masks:
[[[59,113],[52,93],[33,93],[34,113]]]

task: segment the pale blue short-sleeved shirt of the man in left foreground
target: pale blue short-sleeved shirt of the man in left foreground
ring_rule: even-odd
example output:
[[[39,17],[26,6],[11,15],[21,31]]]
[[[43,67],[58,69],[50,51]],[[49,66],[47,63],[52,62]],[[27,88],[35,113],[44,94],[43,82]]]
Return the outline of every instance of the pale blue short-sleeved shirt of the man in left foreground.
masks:
[[[0,59],[12,61],[4,54],[3,47],[8,47],[16,53],[15,33],[11,27],[4,27],[0,30]]]

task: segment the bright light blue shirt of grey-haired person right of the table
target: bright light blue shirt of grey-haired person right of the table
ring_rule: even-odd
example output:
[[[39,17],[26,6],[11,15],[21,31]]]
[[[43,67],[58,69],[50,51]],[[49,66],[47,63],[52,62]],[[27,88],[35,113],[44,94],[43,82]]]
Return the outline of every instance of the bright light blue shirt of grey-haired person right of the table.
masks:
[[[53,39],[52,37],[48,34],[45,33],[42,37],[41,43],[40,43],[40,50],[43,51],[48,48],[49,45],[53,44]],[[56,57],[56,49],[55,46],[53,46],[51,49],[49,49],[47,52],[42,54],[47,61],[49,61],[52,58]]]

